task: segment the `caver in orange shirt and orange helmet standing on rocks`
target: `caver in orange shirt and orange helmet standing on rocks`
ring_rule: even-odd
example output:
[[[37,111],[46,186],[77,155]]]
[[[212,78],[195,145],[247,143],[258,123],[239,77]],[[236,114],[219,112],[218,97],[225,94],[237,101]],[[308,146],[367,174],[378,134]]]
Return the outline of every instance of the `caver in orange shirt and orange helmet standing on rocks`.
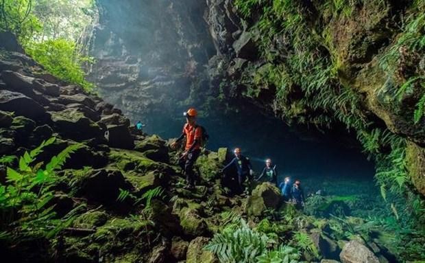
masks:
[[[186,124],[183,126],[182,135],[171,144],[171,148],[176,148],[180,141],[186,138],[186,146],[178,163],[186,175],[186,186],[184,188],[193,189],[195,187],[193,164],[201,153],[202,128],[196,125],[197,111],[195,108],[189,108],[183,114],[186,116]]]

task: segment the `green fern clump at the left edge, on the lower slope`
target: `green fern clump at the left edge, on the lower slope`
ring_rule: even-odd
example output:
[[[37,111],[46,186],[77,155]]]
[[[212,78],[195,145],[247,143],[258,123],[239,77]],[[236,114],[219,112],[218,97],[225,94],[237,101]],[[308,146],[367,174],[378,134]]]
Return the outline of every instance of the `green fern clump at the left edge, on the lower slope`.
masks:
[[[51,186],[56,181],[56,170],[61,169],[66,159],[81,145],[74,144],[67,147],[52,157],[44,169],[41,169],[43,163],[33,165],[43,148],[53,144],[54,141],[55,138],[43,141],[38,148],[25,152],[19,158],[17,169],[7,168],[7,183],[0,184],[0,211],[3,216],[1,229],[18,226],[20,235],[50,238],[71,224],[78,208],[64,218],[58,219],[55,218],[53,206],[47,207],[47,205],[54,197]]]

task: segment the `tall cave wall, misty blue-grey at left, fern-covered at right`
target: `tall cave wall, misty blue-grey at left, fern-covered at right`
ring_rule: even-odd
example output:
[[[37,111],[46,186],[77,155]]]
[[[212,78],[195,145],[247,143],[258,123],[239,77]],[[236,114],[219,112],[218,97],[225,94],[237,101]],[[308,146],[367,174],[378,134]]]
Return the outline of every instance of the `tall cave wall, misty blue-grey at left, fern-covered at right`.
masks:
[[[400,78],[389,76],[380,65],[380,58],[394,49],[404,33],[402,21],[415,15],[412,10],[418,1],[350,1],[350,10],[331,6],[332,1],[293,4],[295,14],[304,19],[302,30],[313,36],[305,36],[305,46],[314,46],[310,62],[320,61],[317,65],[323,70],[319,67],[319,71],[332,75],[322,86],[329,87],[326,92],[335,99],[352,94],[345,99],[348,102],[329,107],[317,103],[326,100],[325,91],[306,93],[305,82],[293,79],[305,78],[308,85],[315,81],[313,71],[288,69],[296,49],[304,48],[303,39],[300,47],[294,47],[286,31],[257,26],[263,19],[263,5],[269,2],[252,4],[249,16],[241,14],[236,2],[241,5],[241,1],[230,0],[99,0],[99,26],[92,48],[97,63],[90,78],[108,102],[156,128],[161,126],[156,123],[161,116],[178,129],[179,116],[189,105],[216,119],[233,108],[321,130],[346,126],[369,155],[380,156],[378,162],[391,163],[386,158],[394,150],[384,134],[406,139],[402,147],[409,156],[412,145],[415,152],[424,150],[425,120],[413,121],[413,111],[424,92],[413,86],[402,98],[394,95],[412,72],[424,76],[424,54],[398,56]],[[271,21],[279,19],[285,18],[276,16]],[[308,42],[311,38],[313,43]],[[288,88],[281,83],[285,74],[293,81]],[[311,106],[316,104],[319,106]],[[368,145],[372,143],[376,145]],[[409,178],[417,178],[411,183],[425,194],[420,180],[425,176],[422,162],[409,160]]]

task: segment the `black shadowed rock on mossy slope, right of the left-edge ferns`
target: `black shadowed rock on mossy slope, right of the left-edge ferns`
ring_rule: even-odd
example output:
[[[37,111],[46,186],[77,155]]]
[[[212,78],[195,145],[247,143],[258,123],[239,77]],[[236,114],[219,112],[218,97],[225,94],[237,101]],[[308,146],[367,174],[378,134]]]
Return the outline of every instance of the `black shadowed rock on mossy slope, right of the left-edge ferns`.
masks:
[[[120,188],[129,190],[131,187],[119,171],[97,170],[81,180],[77,195],[104,205],[116,203]]]

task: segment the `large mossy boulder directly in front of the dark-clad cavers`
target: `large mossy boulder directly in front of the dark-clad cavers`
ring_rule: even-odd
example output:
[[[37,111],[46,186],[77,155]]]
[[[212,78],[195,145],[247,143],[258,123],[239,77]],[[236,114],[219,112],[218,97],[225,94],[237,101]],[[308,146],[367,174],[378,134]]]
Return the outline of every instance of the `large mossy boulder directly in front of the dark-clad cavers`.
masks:
[[[248,197],[245,212],[249,216],[260,216],[266,209],[277,209],[280,204],[280,191],[272,183],[257,185]]]

